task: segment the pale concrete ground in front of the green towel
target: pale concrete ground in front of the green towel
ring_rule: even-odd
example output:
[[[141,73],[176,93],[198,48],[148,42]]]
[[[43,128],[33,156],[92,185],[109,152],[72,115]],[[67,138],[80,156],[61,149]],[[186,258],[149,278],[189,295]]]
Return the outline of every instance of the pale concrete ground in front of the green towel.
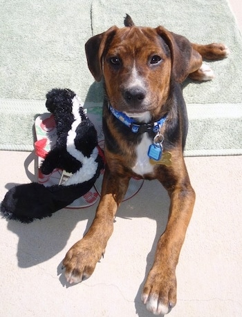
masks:
[[[240,0],[230,1],[242,30]],[[0,151],[0,198],[36,181],[35,154]],[[242,157],[186,157],[196,191],[194,214],[176,270],[178,300],[169,316],[242,316]],[[169,198],[145,182],[122,203],[104,258],[93,276],[66,284],[62,260],[91,225],[97,204],[63,209],[21,224],[0,218],[0,316],[149,317],[140,299]]]

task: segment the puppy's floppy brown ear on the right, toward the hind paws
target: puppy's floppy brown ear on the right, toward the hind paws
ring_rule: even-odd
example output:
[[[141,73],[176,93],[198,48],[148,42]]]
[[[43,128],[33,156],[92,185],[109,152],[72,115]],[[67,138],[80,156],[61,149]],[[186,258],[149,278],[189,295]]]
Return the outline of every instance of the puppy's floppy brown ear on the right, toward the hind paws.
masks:
[[[182,35],[169,32],[162,26],[158,26],[156,31],[169,46],[174,80],[183,82],[190,73],[201,66],[203,62],[201,55],[192,48],[189,40]]]

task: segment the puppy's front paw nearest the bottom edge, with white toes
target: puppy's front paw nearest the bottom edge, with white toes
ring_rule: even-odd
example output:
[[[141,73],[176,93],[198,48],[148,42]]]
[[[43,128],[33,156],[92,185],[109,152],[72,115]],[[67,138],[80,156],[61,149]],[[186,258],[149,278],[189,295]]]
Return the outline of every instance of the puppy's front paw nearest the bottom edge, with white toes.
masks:
[[[142,292],[147,310],[155,315],[165,315],[176,305],[175,270],[151,269]]]

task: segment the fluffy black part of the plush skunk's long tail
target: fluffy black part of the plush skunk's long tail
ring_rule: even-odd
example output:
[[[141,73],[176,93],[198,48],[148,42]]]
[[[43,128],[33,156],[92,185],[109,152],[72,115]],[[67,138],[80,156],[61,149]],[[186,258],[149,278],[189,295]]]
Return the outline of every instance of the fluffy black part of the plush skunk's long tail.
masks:
[[[98,164],[95,175],[86,182],[69,186],[30,183],[13,187],[1,202],[0,211],[4,218],[30,223],[35,219],[50,217],[53,213],[71,204],[90,191],[103,168]]]

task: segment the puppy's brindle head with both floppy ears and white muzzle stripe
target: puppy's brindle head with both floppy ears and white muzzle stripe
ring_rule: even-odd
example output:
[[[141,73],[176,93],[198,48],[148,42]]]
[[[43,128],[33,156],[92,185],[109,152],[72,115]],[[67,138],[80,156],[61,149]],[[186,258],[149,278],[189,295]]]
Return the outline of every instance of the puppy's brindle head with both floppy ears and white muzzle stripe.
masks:
[[[113,26],[86,42],[86,57],[95,80],[104,76],[113,108],[141,119],[160,113],[171,79],[189,75],[192,46],[162,26]]]

